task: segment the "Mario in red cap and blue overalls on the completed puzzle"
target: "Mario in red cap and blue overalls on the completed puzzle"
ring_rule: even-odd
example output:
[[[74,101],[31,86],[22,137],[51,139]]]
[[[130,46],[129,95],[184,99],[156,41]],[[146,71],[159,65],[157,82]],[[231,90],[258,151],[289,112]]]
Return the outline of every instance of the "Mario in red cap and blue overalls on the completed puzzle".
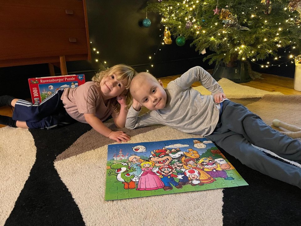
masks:
[[[178,189],[182,188],[182,185],[180,185],[177,181],[175,181],[175,178],[182,178],[181,175],[174,175],[173,174],[174,170],[172,168],[172,166],[170,165],[162,165],[159,168],[159,171],[157,172],[157,174],[159,174],[159,177],[161,177],[162,182],[164,183],[164,191],[169,191],[172,190],[172,186],[175,186]]]

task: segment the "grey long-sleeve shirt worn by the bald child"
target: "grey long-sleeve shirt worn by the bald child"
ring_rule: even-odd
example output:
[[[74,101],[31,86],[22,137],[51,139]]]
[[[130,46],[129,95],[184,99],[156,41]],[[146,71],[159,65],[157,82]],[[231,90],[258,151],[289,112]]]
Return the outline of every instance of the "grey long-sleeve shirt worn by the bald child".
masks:
[[[196,81],[202,83],[211,95],[202,95],[194,90],[191,85]],[[220,105],[214,102],[213,95],[223,92],[223,89],[207,71],[202,67],[193,67],[168,83],[165,91],[167,101],[163,109],[138,116],[139,112],[131,106],[125,127],[135,129],[162,124],[202,136],[214,131],[219,120]]]

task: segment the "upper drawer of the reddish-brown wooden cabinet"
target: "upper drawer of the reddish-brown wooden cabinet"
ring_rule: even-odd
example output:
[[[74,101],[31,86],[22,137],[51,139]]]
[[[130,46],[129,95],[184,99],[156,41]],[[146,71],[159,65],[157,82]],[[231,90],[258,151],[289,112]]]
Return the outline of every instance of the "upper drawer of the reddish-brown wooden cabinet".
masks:
[[[84,28],[81,0],[0,1],[0,30]]]

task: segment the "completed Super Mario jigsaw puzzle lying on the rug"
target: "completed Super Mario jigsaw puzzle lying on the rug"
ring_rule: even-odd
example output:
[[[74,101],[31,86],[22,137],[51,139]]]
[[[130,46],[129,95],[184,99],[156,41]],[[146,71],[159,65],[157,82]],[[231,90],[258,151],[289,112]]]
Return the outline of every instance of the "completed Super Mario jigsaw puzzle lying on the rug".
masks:
[[[246,185],[206,138],[108,145],[105,200]]]

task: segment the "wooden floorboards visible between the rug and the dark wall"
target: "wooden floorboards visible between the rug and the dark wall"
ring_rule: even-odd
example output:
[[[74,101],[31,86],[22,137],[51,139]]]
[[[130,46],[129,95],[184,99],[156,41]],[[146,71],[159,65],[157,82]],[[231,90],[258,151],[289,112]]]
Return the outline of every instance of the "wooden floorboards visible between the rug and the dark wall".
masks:
[[[209,71],[210,73],[210,71]],[[180,77],[181,75],[169,76],[160,78],[164,86]],[[294,90],[293,78],[286,78],[277,75],[262,74],[263,79],[252,80],[247,83],[240,83],[241,85],[250,86],[256,89],[262,89],[270,92],[281,92],[286,95],[301,95],[300,91]],[[198,82],[193,83],[193,87],[199,86]],[[0,107],[0,115],[12,116],[13,111],[11,107]],[[3,125],[0,125],[3,127]]]

